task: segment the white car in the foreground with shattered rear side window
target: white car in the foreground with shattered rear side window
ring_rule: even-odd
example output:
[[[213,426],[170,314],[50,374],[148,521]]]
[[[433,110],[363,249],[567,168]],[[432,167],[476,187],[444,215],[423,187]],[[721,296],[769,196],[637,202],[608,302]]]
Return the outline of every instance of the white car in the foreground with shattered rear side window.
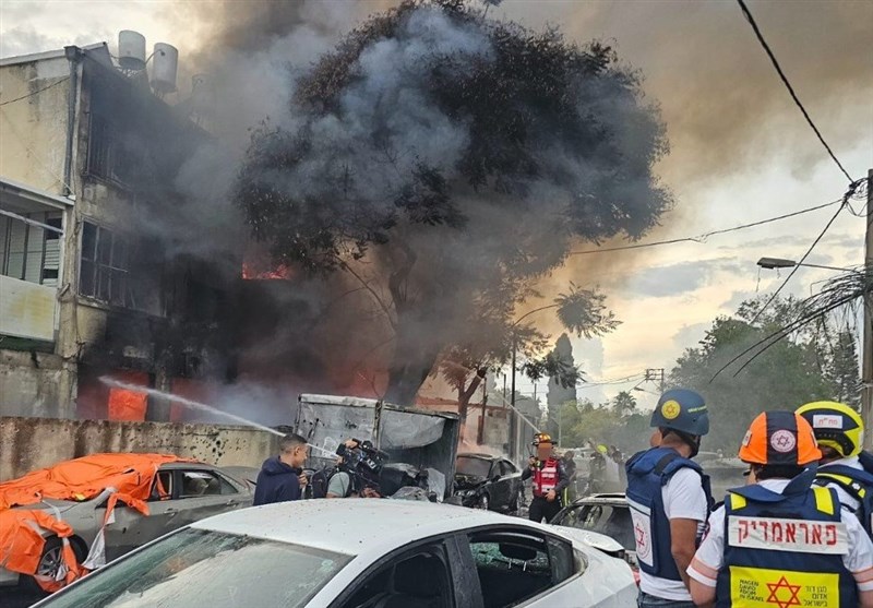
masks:
[[[37,606],[635,606],[627,564],[576,532],[430,502],[270,504],[191,524]]]

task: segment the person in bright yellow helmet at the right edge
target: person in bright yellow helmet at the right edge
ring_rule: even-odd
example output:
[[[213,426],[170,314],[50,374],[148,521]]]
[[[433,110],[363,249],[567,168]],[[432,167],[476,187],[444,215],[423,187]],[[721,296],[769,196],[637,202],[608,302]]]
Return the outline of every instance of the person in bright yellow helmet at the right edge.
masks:
[[[848,405],[818,401],[802,405],[798,414],[815,432],[822,460],[815,482],[837,491],[839,501],[854,513],[869,536],[873,522],[873,455],[861,450],[864,421]]]

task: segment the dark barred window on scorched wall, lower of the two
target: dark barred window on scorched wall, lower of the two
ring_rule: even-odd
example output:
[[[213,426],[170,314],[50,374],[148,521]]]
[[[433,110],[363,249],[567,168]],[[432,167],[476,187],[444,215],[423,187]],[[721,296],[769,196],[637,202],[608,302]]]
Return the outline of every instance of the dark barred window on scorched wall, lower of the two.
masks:
[[[128,306],[130,258],[124,240],[95,224],[82,225],[82,257],[79,293],[97,300]]]

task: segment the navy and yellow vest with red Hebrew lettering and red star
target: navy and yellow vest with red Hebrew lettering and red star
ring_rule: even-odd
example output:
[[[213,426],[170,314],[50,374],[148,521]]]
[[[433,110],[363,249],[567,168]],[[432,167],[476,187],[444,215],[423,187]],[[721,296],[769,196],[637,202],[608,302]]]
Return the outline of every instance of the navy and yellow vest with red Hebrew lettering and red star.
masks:
[[[811,487],[813,475],[794,478],[784,493],[757,485],[730,490],[716,608],[858,608],[842,563],[849,539],[837,492]]]

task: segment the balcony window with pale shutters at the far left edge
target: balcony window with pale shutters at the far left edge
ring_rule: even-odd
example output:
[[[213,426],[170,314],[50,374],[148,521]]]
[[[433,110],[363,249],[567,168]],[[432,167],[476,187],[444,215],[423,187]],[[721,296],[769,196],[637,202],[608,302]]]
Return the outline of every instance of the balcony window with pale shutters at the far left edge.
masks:
[[[28,213],[24,217],[61,228],[59,212]],[[60,233],[0,215],[0,274],[57,287],[61,262]]]

